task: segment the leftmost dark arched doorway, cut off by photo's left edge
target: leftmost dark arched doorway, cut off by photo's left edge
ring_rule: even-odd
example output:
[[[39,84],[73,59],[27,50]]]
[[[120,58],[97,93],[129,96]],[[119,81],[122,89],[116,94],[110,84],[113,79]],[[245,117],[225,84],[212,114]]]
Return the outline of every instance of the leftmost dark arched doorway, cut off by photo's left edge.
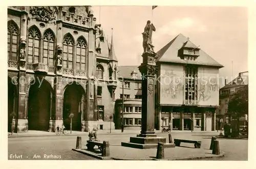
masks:
[[[12,132],[12,120],[17,116],[17,88],[8,77],[8,132]]]

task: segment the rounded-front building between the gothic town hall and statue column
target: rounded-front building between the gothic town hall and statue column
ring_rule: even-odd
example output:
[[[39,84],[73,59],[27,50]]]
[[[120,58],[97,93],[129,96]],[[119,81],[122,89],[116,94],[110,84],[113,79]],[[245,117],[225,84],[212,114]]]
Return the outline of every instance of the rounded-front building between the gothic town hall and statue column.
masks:
[[[141,73],[138,66],[119,66],[118,86],[115,93],[115,126],[121,129],[122,100],[124,129],[141,127]],[[123,87],[123,90],[122,90]],[[123,99],[122,99],[123,97]]]

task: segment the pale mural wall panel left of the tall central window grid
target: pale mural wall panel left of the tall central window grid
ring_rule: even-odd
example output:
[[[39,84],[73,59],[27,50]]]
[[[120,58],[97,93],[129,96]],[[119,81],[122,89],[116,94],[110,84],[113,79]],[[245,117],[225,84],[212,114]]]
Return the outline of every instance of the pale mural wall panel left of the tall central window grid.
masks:
[[[176,65],[161,65],[160,103],[182,104],[183,100],[183,67]]]

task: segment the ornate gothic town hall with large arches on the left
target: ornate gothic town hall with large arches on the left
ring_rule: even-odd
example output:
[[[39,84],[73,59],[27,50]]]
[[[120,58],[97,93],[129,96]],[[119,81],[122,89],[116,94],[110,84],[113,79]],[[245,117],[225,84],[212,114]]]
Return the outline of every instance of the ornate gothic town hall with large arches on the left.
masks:
[[[7,28],[9,132],[110,128],[118,62],[91,6],[8,7]]]

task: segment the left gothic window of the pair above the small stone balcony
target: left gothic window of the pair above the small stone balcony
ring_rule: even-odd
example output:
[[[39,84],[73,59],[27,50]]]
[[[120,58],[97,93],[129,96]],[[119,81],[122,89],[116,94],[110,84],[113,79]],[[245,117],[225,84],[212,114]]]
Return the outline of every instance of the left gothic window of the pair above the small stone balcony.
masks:
[[[28,34],[28,63],[39,62],[40,38],[37,27],[31,27]]]

